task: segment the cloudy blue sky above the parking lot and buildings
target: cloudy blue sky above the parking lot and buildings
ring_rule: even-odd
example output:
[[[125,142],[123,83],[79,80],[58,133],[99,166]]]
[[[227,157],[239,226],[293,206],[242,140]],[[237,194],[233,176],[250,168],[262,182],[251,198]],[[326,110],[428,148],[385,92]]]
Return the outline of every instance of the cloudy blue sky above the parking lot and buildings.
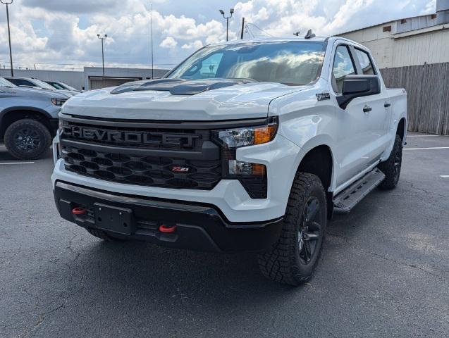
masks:
[[[11,1],[11,0],[9,0]],[[80,69],[101,64],[106,33],[106,65],[150,61],[150,4],[153,4],[154,63],[170,68],[211,42],[226,38],[219,9],[235,8],[230,39],[244,16],[245,37],[333,35],[391,19],[434,13],[436,0],[14,0],[10,6],[13,57],[20,67]],[[263,31],[262,31],[263,30]],[[8,67],[6,6],[0,4],[0,66]],[[16,66],[15,65],[15,66]]]

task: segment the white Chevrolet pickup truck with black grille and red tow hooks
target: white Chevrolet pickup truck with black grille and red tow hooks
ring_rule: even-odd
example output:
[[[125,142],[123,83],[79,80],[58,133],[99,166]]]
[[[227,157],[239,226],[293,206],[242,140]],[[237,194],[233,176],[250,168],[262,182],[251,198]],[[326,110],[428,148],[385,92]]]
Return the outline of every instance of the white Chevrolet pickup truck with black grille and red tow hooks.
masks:
[[[406,96],[347,39],[211,44],[63,105],[56,206],[104,240],[259,251],[266,277],[298,285],[333,211],[398,183]]]

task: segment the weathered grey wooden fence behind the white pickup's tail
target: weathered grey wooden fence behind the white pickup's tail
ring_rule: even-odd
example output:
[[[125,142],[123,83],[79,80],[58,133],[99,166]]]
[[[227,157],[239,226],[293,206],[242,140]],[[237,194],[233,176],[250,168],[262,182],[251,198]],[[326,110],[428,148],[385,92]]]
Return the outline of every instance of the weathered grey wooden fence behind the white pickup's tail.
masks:
[[[408,94],[408,130],[449,134],[449,62],[381,69],[387,87]]]

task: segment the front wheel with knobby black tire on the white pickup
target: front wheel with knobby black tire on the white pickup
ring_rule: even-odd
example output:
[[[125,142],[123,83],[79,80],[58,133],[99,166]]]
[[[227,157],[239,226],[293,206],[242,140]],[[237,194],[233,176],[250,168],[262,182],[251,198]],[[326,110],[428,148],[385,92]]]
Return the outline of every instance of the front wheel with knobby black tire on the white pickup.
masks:
[[[319,261],[327,222],[326,193],[316,175],[297,173],[288,199],[281,237],[259,254],[270,280],[293,286],[307,282]]]

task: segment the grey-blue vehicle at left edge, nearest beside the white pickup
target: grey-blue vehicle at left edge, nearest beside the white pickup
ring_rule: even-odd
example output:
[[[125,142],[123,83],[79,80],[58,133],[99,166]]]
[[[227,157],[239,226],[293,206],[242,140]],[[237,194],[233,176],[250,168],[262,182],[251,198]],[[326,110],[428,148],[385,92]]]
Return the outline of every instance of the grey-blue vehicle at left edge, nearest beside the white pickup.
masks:
[[[21,88],[0,77],[0,141],[10,154],[29,160],[48,151],[67,99],[56,91]]]

